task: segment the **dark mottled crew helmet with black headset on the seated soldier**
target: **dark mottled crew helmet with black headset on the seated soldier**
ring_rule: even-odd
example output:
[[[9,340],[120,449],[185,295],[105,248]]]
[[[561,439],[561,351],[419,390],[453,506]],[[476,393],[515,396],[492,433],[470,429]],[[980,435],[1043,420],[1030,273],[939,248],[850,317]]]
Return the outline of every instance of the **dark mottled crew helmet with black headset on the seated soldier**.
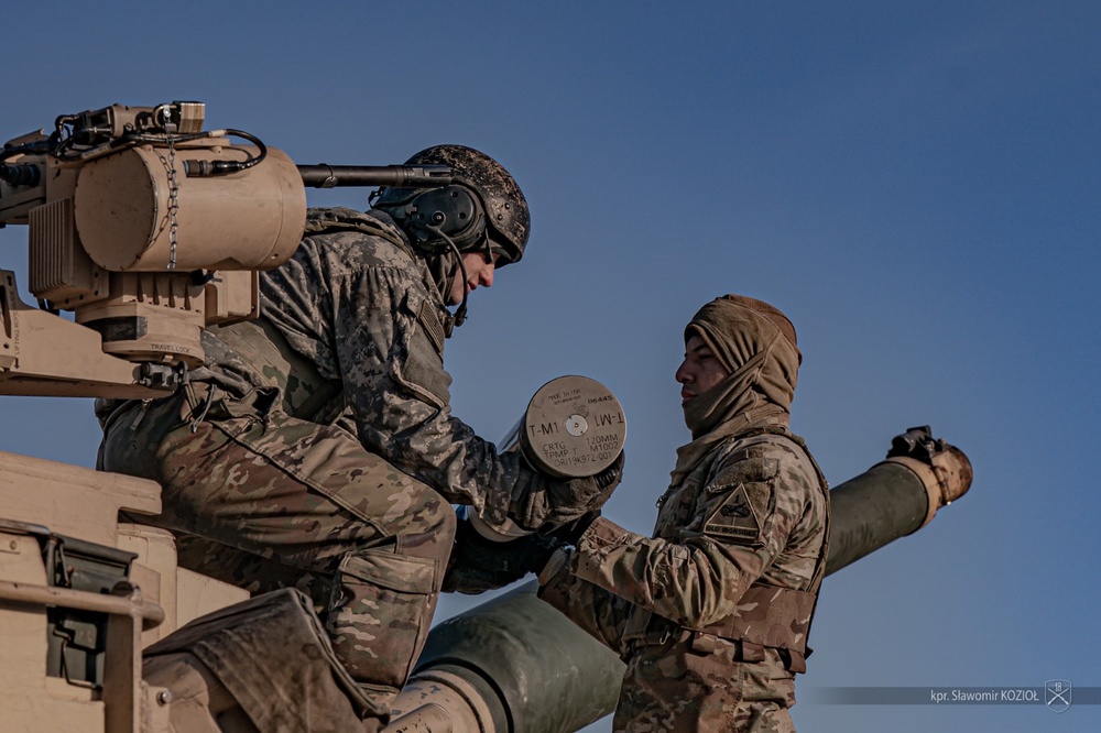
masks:
[[[406,165],[447,165],[454,183],[439,188],[382,188],[374,208],[390,214],[426,255],[484,250],[501,269],[527,245],[531,215],[516,180],[489,155],[464,145],[435,145]]]

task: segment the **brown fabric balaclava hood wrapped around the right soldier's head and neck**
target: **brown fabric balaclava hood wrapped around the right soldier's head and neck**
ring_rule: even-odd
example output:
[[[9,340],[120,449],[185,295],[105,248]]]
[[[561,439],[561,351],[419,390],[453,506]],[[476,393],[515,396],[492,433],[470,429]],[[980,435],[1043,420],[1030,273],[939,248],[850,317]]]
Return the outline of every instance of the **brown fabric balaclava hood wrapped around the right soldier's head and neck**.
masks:
[[[787,425],[803,361],[787,316],[744,295],[726,295],[700,308],[685,327],[685,341],[693,336],[730,374],[685,405],[694,439],[677,451],[675,482],[728,436]]]

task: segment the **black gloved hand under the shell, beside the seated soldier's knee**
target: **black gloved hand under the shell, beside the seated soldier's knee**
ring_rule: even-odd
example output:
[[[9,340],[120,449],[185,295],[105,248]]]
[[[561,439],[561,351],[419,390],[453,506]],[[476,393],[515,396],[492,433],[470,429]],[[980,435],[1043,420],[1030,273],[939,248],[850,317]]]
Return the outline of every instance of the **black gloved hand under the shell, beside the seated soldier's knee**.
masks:
[[[460,518],[442,590],[472,594],[503,588],[542,570],[560,544],[554,537],[534,534],[493,541],[482,537],[469,519]]]

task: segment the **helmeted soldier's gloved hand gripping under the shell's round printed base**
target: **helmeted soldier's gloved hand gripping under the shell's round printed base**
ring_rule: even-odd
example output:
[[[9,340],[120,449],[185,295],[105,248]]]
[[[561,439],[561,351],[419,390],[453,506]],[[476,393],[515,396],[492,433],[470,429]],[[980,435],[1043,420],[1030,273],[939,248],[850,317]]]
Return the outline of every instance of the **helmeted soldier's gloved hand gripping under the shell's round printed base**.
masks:
[[[558,479],[522,467],[509,514],[524,529],[563,525],[604,505],[623,474],[623,455],[596,477]]]

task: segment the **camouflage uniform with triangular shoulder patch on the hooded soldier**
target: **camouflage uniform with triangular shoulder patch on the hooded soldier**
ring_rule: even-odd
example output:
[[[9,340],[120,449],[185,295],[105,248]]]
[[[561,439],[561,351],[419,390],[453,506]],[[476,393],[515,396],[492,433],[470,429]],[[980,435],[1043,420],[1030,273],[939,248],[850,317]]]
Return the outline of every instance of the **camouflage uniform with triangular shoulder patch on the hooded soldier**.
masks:
[[[707,450],[678,463],[652,538],[597,518],[541,575],[541,597],[628,665],[615,731],[793,730],[829,497],[768,407],[697,436]]]

